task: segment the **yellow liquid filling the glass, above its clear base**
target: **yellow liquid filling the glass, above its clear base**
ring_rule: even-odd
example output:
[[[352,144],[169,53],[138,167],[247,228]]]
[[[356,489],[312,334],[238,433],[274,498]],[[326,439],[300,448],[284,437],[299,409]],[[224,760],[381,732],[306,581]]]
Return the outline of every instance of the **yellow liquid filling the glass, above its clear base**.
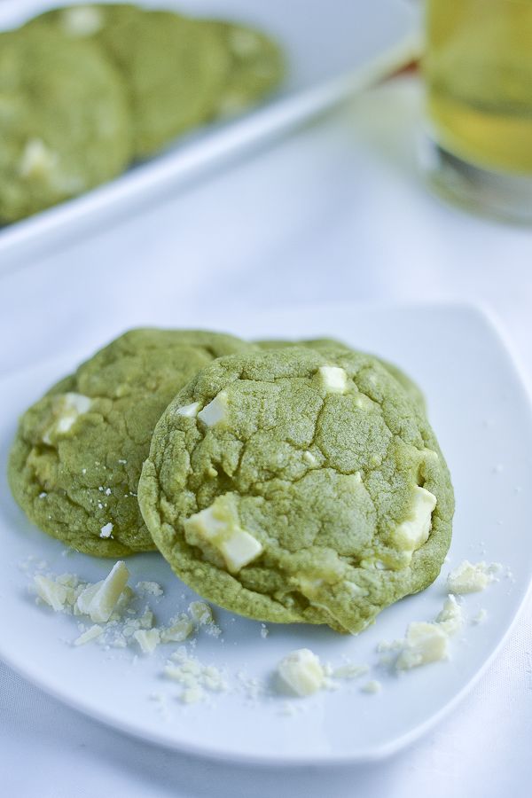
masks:
[[[532,0],[426,0],[423,70],[437,142],[532,174]]]

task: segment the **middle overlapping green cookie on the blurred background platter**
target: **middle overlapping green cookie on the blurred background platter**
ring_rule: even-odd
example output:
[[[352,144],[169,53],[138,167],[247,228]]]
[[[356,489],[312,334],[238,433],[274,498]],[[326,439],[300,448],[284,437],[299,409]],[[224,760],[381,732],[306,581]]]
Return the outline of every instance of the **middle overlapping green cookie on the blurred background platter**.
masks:
[[[129,89],[134,148],[144,158],[207,121],[226,82],[229,51],[215,29],[172,12],[91,4],[43,14],[30,26],[59,27],[97,41]]]

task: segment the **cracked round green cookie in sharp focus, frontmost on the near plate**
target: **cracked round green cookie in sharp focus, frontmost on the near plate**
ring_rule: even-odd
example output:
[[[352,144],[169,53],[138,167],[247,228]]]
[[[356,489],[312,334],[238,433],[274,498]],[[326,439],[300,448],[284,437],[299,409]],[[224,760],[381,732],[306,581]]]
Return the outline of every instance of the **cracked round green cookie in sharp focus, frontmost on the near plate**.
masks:
[[[297,347],[202,369],[155,427],[138,500],[205,599],[353,633],[434,581],[454,508],[426,416],[379,361]]]

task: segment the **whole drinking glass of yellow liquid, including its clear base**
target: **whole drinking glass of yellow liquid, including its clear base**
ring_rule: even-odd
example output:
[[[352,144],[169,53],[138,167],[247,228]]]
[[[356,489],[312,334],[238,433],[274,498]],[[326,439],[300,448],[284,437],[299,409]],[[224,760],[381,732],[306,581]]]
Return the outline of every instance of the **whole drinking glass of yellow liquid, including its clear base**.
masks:
[[[431,183],[532,223],[532,0],[426,0],[425,13]]]

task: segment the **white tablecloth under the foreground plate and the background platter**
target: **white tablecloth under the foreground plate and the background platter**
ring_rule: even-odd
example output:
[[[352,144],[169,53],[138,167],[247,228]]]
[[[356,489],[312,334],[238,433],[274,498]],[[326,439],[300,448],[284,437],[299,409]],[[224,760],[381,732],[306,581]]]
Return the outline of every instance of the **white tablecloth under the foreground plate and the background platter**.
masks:
[[[415,164],[418,131],[416,83],[395,81],[186,196],[24,268],[7,264],[2,371],[56,355],[59,335],[68,348],[96,346],[131,324],[207,324],[209,309],[219,315],[221,306],[229,320],[240,303],[451,298],[495,309],[529,375],[532,232],[431,197]],[[126,242],[134,253],[127,260]],[[520,798],[532,776],[531,616],[528,606],[450,718],[387,763],[356,770],[254,771],[168,754],[93,724],[0,669],[3,789],[53,798]]]

